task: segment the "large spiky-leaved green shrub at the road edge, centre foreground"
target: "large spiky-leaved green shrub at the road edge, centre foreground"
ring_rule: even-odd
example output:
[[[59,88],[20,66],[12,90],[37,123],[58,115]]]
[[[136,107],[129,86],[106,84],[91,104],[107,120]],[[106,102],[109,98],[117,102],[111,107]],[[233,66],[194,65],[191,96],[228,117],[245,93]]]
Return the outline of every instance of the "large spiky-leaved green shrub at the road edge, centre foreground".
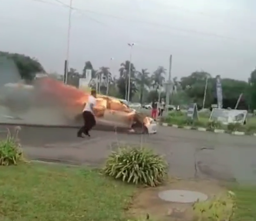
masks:
[[[151,149],[128,146],[109,155],[104,172],[123,182],[157,186],[164,182],[167,168],[167,162]]]

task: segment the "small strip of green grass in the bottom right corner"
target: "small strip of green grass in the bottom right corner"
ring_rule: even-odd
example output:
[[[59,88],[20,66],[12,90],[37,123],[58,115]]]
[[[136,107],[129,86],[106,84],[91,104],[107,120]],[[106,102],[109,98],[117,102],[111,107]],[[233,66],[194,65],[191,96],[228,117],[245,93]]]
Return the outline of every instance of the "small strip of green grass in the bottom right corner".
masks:
[[[231,190],[236,195],[238,209],[235,221],[256,220],[256,186],[233,186]]]

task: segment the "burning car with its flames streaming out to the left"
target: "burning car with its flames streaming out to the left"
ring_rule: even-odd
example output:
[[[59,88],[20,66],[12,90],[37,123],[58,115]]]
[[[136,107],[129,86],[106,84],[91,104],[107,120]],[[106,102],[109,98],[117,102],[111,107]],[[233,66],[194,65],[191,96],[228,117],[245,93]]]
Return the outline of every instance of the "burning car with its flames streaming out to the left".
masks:
[[[82,108],[87,103],[89,90],[82,91],[49,77],[36,80],[35,88],[38,96],[41,96],[41,104],[61,107],[70,125],[82,124]],[[115,97],[98,94],[94,111],[98,128],[114,127],[149,134],[157,132],[157,123],[152,118],[132,110]]]

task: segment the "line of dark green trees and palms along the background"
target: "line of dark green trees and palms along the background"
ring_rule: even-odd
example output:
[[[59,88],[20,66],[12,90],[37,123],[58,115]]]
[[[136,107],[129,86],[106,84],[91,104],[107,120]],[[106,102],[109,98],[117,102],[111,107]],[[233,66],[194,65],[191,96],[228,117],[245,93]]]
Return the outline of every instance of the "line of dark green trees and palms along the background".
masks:
[[[42,64],[34,57],[8,52],[0,52],[0,56],[14,60],[22,79],[28,82],[34,79],[36,73],[45,72]],[[68,84],[78,87],[79,78],[86,76],[86,70],[91,70],[92,77],[98,77],[99,79],[99,90],[102,94],[107,93],[108,84],[108,94],[110,96],[124,99],[128,93],[129,66],[128,60],[121,63],[119,73],[113,76],[109,67],[102,66],[99,69],[94,69],[92,63],[87,61],[81,72],[71,67],[68,71],[67,81]],[[59,74],[50,73],[49,75],[63,80]],[[218,73],[215,73],[216,75]],[[186,77],[181,77],[181,79],[174,77],[172,79],[170,104],[187,105],[189,103],[197,103],[199,107],[202,107],[204,94],[206,95],[205,108],[211,107],[211,104],[216,104],[215,76],[208,72],[195,71]],[[152,101],[153,98],[158,99],[159,93],[161,98],[165,98],[164,83],[166,77],[167,70],[163,66],[158,66],[153,73],[150,73],[146,68],[137,70],[134,63],[131,63],[130,100],[147,103]],[[229,78],[221,79],[224,108],[234,108],[238,97],[242,94],[238,108],[256,109],[256,69],[248,73],[248,77],[248,81]],[[206,82],[207,89],[205,90]]]

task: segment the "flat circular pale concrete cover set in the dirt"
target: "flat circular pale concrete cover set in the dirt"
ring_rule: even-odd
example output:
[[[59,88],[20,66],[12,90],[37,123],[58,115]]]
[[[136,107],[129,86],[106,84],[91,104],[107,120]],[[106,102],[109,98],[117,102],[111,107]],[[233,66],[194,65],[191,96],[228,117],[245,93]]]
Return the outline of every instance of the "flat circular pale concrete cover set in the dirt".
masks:
[[[197,200],[205,201],[208,198],[204,193],[179,189],[161,191],[158,196],[162,200],[176,203],[194,203]]]

